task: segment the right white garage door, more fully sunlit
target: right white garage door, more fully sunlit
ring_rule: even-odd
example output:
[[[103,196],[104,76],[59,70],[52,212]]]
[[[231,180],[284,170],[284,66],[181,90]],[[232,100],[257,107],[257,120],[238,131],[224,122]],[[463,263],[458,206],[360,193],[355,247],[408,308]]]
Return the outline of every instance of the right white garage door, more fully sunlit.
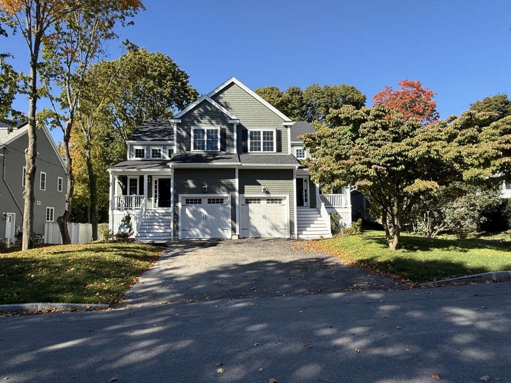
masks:
[[[287,237],[286,197],[242,197],[242,237]]]

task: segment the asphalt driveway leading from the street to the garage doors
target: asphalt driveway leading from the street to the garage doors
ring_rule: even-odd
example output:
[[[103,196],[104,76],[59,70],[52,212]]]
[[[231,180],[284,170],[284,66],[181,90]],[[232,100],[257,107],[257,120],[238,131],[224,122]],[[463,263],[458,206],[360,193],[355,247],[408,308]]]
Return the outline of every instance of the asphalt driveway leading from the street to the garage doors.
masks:
[[[304,242],[176,241],[118,307],[404,289],[394,279],[348,266]]]

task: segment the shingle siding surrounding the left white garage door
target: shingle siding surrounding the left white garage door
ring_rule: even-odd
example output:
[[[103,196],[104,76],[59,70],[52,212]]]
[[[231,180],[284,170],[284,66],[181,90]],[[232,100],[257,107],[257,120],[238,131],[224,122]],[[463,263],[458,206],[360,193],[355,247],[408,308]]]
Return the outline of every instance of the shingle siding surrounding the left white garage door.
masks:
[[[179,233],[179,195],[230,194],[231,231],[236,233],[236,171],[235,169],[175,169],[174,170],[174,235]]]

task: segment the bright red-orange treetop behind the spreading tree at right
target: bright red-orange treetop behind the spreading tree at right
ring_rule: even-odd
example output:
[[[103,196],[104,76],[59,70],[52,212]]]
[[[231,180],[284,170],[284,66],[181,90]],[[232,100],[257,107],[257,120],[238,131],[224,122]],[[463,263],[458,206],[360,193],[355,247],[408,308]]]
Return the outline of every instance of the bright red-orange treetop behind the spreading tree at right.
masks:
[[[439,114],[436,111],[436,102],[432,101],[436,94],[429,88],[423,88],[420,81],[401,80],[398,82],[401,90],[393,90],[386,85],[385,90],[373,97],[373,106],[385,104],[390,109],[397,109],[403,114],[404,121],[418,118],[423,125],[434,123]]]

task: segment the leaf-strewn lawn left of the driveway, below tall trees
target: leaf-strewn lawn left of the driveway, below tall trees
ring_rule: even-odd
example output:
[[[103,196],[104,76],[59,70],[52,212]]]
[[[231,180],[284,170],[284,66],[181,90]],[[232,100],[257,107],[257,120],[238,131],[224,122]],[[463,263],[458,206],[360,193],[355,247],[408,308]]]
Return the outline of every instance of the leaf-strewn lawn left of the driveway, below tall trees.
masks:
[[[117,302],[161,250],[151,245],[101,242],[2,250],[0,304]]]

